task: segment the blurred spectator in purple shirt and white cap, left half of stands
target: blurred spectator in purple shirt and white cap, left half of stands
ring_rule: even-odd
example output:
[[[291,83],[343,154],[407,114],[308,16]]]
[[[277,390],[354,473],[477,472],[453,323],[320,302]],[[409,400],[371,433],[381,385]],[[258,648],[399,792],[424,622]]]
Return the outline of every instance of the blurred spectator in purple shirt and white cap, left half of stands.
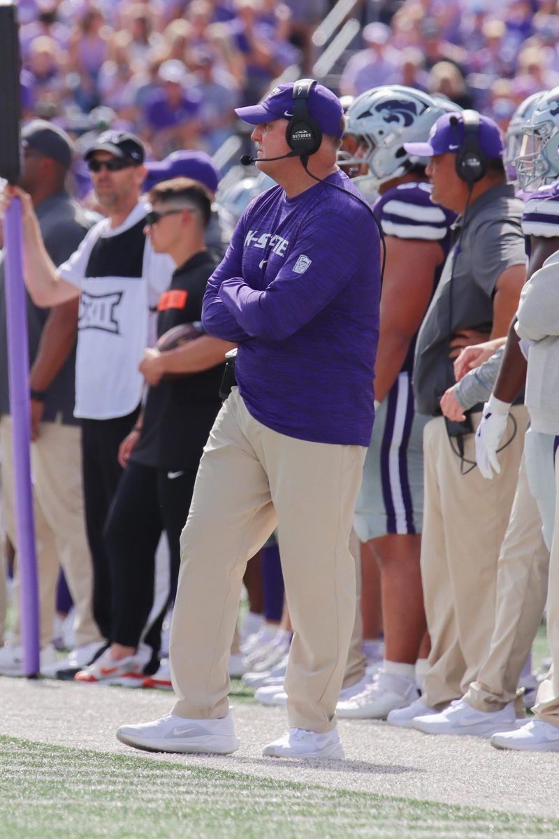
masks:
[[[153,94],[145,109],[143,136],[152,144],[153,154],[163,157],[175,149],[196,145],[200,96],[182,61],[163,61],[158,79],[161,89]]]

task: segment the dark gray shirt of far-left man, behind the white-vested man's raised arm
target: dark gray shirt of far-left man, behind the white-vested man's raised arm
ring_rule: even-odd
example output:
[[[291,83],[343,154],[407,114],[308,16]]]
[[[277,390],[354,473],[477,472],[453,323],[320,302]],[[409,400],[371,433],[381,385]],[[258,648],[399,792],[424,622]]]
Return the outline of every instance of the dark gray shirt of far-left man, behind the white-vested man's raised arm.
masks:
[[[60,192],[41,201],[35,207],[44,246],[55,265],[65,262],[77,250],[91,221],[70,195]],[[8,336],[6,325],[4,265],[0,264],[0,414],[10,413],[8,394]],[[44,323],[49,309],[40,309],[26,294],[29,341],[29,363],[33,364],[39,349]],[[75,348],[70,352],[59,373],[51,383],[44,400],[43,420],[52,422],[60,414],[65,425],[75,424]]]

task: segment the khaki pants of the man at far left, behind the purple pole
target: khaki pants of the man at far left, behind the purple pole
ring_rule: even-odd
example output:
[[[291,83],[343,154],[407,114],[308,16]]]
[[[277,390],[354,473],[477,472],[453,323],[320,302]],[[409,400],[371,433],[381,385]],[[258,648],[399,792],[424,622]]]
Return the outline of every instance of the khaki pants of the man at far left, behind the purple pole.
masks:
[[[12,419],[0,418],[3,447],[3,506],[8,537],[17,546],[12,461]],[[48,644],[53,634],[56,585],[59,568],[75,607],[75,644],[100,640],[91,613],[91,556],[85,536],[83,495],[81,489],[80,427],[44,422],[39,439],[31,446],[31,469],[34,488],[34,524],[39,577],[40,645]],[[0,574],[0,613],[6,613],[6,581]],[[19,588],[16,575],[13,586],[15,627],[13,642],[19,643]],[[0,623],[2,623],[0,621]]]

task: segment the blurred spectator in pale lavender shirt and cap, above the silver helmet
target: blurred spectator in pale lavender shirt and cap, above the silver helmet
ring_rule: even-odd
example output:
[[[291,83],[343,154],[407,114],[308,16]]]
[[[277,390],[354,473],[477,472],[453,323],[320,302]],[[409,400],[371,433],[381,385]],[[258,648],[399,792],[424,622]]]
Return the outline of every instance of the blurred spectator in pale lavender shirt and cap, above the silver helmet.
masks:
[[[391,34],[386,23],[368,23],[365,26],[365,50],[352,55],[339,80],[342,95],[359,96],[371,87],[393,85],[399,81],[401,59],[391,47]]]

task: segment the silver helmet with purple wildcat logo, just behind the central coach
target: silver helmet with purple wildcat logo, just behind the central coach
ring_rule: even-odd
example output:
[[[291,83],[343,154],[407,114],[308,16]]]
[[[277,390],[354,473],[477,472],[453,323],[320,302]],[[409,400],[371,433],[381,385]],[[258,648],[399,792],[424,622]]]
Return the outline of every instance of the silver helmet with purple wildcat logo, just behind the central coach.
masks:
[[[415,164],[427,160],[411,157],[403,143],[427,140],[433,122],[444,112],[460,111],[454,102],[437,98],[413,87],[390,85],[373,87],[357,96],[345,115],[345,134],[355,137],[354,156],[339,156],[344,167],[367,164],[367,175],[355,181],[373,180],[375,189],[393,178],[405,175]]]

